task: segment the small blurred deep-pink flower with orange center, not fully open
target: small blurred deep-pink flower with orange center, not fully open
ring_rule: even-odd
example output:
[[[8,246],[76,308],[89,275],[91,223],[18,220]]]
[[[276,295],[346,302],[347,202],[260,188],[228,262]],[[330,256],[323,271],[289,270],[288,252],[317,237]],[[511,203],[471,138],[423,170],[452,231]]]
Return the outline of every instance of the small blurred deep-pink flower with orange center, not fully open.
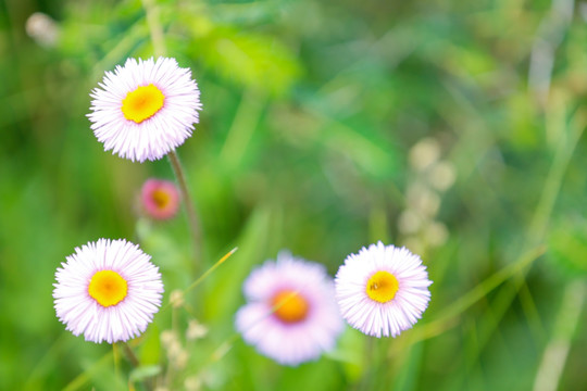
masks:
[[[140,190],[140,201],[149,217],[168,219],[179,210],[179,190],[171,180],[148,179]]]

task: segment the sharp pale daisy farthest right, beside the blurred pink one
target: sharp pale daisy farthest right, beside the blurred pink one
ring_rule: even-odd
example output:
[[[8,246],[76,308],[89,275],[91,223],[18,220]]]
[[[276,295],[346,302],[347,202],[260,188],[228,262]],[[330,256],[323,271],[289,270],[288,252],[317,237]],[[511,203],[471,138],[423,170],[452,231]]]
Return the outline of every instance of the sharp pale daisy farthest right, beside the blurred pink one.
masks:
[[[377,338],[396,337],[422,317],[430,283],[420,256],[380,241],[347,256],[335,277],[342,317]]]

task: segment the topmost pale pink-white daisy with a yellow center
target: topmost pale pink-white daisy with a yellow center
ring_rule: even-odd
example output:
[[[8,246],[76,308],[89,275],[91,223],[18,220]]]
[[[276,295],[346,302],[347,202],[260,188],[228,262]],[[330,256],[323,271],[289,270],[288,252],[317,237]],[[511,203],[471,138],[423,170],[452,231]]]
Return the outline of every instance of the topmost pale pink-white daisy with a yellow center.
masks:
[[[107,72],[90,97],[91,129],[104,150],[145,162],[163,157],[191,136],[200,90],[175,59],[128,59]]]

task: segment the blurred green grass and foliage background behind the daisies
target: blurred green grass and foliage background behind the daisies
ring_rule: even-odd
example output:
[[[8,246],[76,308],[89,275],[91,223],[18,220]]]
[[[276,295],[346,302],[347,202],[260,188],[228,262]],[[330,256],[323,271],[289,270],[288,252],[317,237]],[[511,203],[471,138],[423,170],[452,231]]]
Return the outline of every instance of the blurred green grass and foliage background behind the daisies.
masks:
[[[1,390],[146,389],[163,374],[173,390],[587,389],[585,2],[165,0],[155,18],[202,93],[177,150],[200,270],[239,250],[130,343],[139,369],[64,330],[52,282],[75,247],[140,243],[165,301],[196,279],[193,250],[184,215],[137,214],[168,162],[104,152],[85,117],[104,71],[153,54],[141,2],[0,1]],[[298,368],[234,337],[254,265],[287,248],[334,275],[377,240],[421,254],[434,280],[413,330],[348,328]],[[193,318],[209,333],[190,342]],[[187,363],[167,356],[167,329]]]

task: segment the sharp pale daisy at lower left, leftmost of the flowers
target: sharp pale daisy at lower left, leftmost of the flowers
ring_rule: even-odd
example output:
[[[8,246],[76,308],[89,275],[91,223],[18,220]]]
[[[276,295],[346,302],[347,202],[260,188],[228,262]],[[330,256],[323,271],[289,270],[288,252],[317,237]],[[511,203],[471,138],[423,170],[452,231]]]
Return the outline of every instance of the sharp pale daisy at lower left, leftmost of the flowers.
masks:
[[[126,341],[147,329],[161,305],[159,268],[136,244],[100,239],[76,248],[55,273],[59,319],[74,336]]]

